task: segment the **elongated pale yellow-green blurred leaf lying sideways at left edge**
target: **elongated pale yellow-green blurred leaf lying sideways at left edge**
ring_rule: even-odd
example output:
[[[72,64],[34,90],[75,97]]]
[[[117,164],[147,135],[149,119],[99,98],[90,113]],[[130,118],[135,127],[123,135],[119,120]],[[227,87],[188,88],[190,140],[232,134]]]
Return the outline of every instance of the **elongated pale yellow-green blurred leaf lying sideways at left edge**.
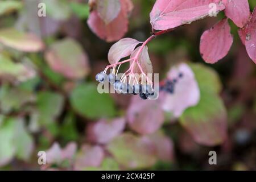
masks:
[[[14,28],[0,30],[0,43],[24,52],[38,52],[44,49],[44,43],[36,35],[19,32]]]

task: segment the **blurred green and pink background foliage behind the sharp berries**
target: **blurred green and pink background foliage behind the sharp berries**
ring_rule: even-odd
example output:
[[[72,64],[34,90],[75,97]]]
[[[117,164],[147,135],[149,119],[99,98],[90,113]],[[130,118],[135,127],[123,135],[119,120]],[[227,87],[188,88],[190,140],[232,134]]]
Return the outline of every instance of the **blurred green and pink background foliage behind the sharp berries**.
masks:
[[[37,16],[39,2],[47,17]],[[150,36],[154,2],[133,1],[125,37]],[[256,1],[249,2],[253,10]],[[232,21],[232,49],[214,65],[201,59],[200,36],[222,13],[148,44],[161,79],[189,64],[201,100],[180,118],[156,108],[156,117],[133,126],[127,120],[140,114],[133,108],[147,115],[155,103],[97,92],[94,77],[113,43],[93,34],[88,16],[82,0],[0,1],[0,169],[256,169],[256,69]],[[208,164],[211,150],[216,166]],[[47,151],[45,166],[39,151]]]

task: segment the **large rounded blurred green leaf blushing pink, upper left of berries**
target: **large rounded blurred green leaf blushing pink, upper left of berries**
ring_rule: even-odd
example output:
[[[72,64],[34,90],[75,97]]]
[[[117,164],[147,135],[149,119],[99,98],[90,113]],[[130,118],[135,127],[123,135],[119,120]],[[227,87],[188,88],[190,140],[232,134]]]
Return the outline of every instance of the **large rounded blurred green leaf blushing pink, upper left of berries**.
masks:
[[[76,40],[55,42],[45,54],[49,66],[70,79],[83,78],[90,72],[88,56]]]

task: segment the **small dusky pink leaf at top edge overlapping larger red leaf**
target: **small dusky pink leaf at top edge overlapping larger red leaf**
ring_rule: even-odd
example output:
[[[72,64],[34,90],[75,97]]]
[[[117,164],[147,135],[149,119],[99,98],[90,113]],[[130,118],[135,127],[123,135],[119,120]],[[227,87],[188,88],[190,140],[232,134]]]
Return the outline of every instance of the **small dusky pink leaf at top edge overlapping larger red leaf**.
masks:
[[[98,0],[97,1],[98,15],[106,24],[109,24],[117,18],[121,11],[121,5],[119,0]]]

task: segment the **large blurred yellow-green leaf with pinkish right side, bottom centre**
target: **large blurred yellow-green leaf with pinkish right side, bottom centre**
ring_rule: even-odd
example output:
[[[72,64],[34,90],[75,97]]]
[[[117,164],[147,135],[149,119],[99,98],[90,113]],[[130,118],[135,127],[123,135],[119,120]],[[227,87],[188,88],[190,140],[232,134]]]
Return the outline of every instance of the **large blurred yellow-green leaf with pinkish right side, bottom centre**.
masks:
[[[154,143],[148,138],[139,138],[130,133],[119,135],[108,144],[107,149],[125,168],[142,169],[156,162]]]

